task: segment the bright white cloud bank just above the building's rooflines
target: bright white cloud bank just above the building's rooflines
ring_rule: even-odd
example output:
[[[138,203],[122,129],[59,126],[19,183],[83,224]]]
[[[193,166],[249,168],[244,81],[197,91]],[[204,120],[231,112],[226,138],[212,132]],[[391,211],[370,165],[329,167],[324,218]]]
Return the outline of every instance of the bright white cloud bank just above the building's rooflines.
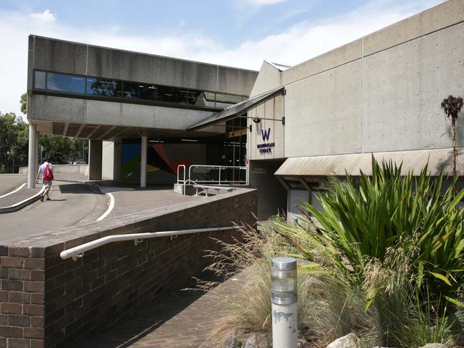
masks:
[[[126,34],[123,28],[82,29],[56,21],[44,25],[44,21],[31,21],[25,14],[0,12],[4,19],[0,21],[0,46],[4,48],[0,55],[0,111],[21,114],[19,96],[26,91],[29,34],[258,70],[264,59],[301,63],[437,3],[415,0],[392,6],[391,1],[379,0],[382,6],[370,5],[318,23],[303,21],[279,34],[245,41],[233,48],[194,31],[139,36]]]

